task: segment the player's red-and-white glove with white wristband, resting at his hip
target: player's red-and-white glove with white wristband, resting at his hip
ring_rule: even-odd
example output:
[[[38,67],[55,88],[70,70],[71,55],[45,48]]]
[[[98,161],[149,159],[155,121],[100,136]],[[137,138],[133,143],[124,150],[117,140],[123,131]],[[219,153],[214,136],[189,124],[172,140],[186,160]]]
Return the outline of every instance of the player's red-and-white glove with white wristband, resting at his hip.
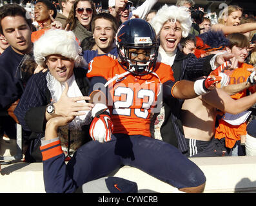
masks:
[[[96,104],[92,109],[92,117],[94,117],[94,120],[92,120],[89,131],[92,139],[101,143],[110,141],[113,122],[108,108],[104,104]]]

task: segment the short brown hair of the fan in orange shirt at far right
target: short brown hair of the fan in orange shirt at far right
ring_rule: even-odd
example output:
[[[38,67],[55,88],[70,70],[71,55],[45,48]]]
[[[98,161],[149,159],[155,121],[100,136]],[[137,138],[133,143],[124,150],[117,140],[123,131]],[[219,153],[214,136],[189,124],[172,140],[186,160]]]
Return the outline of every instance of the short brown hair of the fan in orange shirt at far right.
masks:
[[[248,41],[248,38],[242,33],[230,33],[227,36],[227,39],[230,41],[228,44],[228,47],[230,49],[233,48],[233,46],[237,46],[240,48],[250,46],[250,42]]]

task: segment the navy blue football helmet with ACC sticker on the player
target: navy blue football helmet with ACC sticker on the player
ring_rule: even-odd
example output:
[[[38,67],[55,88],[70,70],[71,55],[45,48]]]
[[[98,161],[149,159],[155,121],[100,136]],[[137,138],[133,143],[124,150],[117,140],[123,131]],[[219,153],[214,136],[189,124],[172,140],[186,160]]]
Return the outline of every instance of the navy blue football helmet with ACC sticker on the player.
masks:
[[[155,70],[159,42],[150,23],[143,19],[125,21],[117,31],[115,42],[121,59],[119,63],[124,70],[130,71],[133,75],[147,75]],[[146,50],[147,60],[132,60],[131,49]]]

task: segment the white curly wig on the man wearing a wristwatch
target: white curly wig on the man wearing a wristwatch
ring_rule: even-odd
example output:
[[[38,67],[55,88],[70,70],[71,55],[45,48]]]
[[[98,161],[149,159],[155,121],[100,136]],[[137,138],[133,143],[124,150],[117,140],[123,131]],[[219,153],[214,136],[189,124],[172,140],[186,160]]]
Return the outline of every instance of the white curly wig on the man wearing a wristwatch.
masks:
[[[34,42],[35,62],[45,67],[48,55],[58,54],[75,61],[75,67],[88,66],[72,31],[51,29]]]

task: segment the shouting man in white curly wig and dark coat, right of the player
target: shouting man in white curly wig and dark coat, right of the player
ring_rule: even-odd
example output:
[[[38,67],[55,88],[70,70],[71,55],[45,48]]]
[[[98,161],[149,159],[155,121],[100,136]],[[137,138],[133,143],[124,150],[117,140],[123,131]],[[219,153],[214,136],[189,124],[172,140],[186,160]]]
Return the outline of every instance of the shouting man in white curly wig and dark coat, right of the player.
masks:
[[[193,80],[208,76],[213,69],[231,57],[230,55],[208,55],[197,59],[195,55],[191,53],[184,55],[179,50],[178,46],[181,38],[188,36],[192,26],[190,13],[188,8],[184,6],[164,5],[158,10],[150,23],[160,40],[157,61],[172,66],[175,80]],[[152,135],[178,147],[182,153],[188,150],[180,120],[183,102],[179,99],[172,102],[163,102],[160,114],[155,114],[152,119],[154,121],[157,118],[157,124],[152,128],[154,131]]]

